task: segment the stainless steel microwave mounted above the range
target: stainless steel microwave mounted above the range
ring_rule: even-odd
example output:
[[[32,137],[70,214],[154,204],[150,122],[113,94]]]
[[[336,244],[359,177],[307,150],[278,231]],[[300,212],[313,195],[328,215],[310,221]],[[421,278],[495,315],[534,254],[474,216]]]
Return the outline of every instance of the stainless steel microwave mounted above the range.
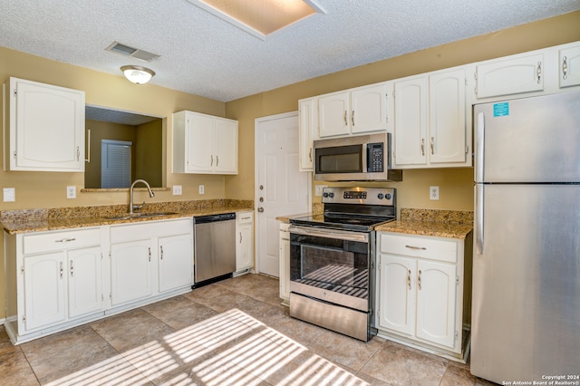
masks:
[[[314,140],[314,179],[323,181],[401,181],[391,169],[391,134]]]

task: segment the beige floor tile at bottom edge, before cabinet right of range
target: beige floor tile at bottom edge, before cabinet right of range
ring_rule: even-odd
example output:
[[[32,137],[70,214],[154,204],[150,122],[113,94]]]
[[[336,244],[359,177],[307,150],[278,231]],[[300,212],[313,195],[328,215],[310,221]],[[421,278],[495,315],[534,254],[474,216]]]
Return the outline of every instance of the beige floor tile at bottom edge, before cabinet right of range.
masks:
[[[361,373],[392,386],[429,386],[439,385],[446,370],[447,360],[387,341]]]

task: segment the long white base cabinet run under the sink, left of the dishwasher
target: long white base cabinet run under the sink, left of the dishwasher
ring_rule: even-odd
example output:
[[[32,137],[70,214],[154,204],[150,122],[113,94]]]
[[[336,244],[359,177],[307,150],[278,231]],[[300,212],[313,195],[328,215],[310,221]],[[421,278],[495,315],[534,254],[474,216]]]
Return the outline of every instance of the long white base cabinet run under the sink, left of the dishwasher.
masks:
[[[5,285],[13,343],[186,293],[193,219],[5,233]]]

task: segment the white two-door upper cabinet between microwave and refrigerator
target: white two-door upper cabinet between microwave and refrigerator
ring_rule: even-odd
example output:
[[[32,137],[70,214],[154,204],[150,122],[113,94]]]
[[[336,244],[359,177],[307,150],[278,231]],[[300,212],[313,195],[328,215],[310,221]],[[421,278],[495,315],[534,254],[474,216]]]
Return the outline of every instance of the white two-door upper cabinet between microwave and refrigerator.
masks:
[[[465,90],[463,68],[394,82],[394,168],[471,166]]]

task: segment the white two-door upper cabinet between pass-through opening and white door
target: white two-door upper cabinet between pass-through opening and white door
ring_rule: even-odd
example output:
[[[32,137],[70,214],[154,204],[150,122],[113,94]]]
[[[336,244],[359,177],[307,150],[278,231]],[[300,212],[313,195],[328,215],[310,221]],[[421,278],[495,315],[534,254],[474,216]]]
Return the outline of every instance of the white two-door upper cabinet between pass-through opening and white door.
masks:
[[[237,121],[193,111],[174,113],[173,172],[237,174]]]

